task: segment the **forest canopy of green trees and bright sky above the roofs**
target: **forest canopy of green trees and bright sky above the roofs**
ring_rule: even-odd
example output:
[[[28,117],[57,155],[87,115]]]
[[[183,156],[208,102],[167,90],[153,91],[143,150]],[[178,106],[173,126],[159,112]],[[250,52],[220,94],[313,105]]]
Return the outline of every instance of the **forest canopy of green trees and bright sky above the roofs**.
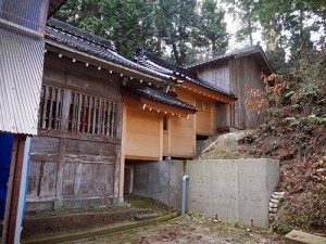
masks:
[[[230,49],[226,13],[243,46],[256,44],[252,35],[261,33],[278,73],[289,72],[286,62],[294,64],[303,52],[325,48],[326,4],[319,0],[67,0],[55,17],[115,41],[128,59],[140,47],[187,65]]]

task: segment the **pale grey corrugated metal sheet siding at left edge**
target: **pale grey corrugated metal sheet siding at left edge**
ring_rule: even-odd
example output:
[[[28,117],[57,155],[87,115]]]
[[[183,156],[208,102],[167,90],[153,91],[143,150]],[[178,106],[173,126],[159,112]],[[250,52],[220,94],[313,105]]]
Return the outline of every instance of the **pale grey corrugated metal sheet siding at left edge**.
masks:
[[[0,28],[0,131],[36,134],[45,42]]]

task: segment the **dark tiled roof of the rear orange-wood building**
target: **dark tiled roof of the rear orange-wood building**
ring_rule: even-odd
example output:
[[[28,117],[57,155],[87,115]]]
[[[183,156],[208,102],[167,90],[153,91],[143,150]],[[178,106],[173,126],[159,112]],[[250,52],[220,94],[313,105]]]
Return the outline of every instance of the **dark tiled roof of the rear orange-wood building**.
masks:
[[[187,68],[174,64],[170,64],[159,57],[153,56],[152,54],[146,52],[142,49],[136,50],[135,60],[142,66],[151,68],[155,72],[160,72],[162,74],[170,75],[172,77],[177,77],[178,79],[181,80],[185,79],[190,82],[197,84],[199,86],[205,87],[210,90],[217,91],[222,94],[226,94],[235,98],[234,93],[197,77],[196,73]]]

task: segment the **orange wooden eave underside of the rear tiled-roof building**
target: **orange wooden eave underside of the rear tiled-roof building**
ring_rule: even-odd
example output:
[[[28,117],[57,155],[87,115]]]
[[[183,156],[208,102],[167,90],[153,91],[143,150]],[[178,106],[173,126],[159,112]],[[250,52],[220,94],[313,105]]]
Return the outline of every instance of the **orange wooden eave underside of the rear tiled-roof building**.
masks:
[[[211,100],[215,100],[217,102],[222,102],[222,103],[233,103],[235,101],[237,101],[237,98],[230,97],[230,95],[226,95],[223,93],[220,93],[217,91],[213,91],[211,89],[208,89],[205,87],[202,87],[200,85],[190,82],[185,80],[183,85],[178,85],[177,87],[185,89],[187,91],[190,91],[197,95],[202,95],[206,99],[211,99]]]

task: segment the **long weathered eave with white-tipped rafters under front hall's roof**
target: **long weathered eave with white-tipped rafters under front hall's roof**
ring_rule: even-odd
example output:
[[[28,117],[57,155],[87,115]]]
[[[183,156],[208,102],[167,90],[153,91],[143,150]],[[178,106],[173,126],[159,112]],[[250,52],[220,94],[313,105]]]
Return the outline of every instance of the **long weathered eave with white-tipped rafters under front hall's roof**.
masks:
[[[46,39],[46,51],[49,50],[51,52],[58,53],[60,57],[66,56],[72,59],[72,61],[74,62],[83,62],[86,64],[86,66],[91,64],[93,66],[97,66],[99,69],[103,68],[110,70],[110,73],[117,73],[122,77],[129,77],[130,79],[135,78],[138,79],[140,82],[146,81],[148,84],[155,84],[158,86],[166,85],[166,81],[168,81],[155,76],[151,76],[150,74],[146,74],[140,70],[123,66],[112,61],[108,61],[91,54],[87,54],[85,52],[80,52],[78,50],[75,50],[73,48],[66,47],[52,40]],[[173,84],[173,80],[171,80],[171,84]]]

